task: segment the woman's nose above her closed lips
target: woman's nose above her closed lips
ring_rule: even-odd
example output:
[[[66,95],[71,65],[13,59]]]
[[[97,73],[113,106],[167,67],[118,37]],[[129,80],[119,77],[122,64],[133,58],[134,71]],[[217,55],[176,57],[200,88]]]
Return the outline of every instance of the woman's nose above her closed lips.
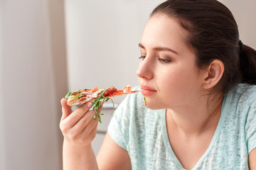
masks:
[[[139,63],[139,67],[136,72],[137,77],[142,79],[152,79],[154,77],[153,69],[154,64],[151,63],[150,60],[146,60],[145,58]]]

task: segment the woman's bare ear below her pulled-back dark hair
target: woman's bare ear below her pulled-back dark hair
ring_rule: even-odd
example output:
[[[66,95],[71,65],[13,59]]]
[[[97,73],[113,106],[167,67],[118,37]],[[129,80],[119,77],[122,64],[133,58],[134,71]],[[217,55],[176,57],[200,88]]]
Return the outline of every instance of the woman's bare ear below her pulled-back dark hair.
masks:
[[[203,89],[211,89],[218,84],[221,77],[223,77],[224,65],[220,60],[213,60],[206,69],[206,74],[203,79]]]

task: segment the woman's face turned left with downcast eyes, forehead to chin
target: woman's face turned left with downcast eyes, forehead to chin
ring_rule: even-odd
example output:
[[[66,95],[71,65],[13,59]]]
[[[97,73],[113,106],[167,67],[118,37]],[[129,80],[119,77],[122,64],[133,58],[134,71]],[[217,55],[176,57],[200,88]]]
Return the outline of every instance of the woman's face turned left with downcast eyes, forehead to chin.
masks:
[[[146,24],[137,76],[148,108],[191,106],[202,95],[203,74],[185,43],[187,36],[176,19],[164,15],[152,16]]]

